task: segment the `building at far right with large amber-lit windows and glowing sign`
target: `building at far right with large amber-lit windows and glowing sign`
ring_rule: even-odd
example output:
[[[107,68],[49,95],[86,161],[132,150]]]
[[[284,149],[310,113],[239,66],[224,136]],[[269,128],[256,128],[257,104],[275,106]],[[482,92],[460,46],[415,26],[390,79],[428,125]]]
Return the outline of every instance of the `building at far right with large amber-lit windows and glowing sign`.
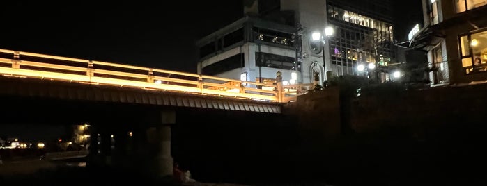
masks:
[[[428,52],[431,85],[487,80],[487,1],[423,0],[424,27],[410,47]]]

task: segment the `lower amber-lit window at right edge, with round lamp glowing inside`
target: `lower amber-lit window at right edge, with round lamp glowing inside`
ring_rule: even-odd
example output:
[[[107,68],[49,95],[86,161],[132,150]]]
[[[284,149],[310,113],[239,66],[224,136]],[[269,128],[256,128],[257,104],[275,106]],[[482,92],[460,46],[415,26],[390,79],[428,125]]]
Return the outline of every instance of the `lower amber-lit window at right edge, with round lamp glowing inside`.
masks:
[[[487,71],[487,31],[459,38],[462,67],[466,74]]]

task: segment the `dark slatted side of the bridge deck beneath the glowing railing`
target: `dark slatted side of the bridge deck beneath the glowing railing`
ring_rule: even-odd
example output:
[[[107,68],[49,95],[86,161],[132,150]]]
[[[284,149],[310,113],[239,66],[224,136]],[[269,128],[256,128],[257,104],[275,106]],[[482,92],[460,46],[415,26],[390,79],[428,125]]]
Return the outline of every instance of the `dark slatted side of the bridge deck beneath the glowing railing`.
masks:
[[[210,95],[10,77],[0,78],[0,96],[265,113],[281,113],[282,106],[282,103],[249,99],[230,99]],[[49,105],[45,106],[49,107]]]

